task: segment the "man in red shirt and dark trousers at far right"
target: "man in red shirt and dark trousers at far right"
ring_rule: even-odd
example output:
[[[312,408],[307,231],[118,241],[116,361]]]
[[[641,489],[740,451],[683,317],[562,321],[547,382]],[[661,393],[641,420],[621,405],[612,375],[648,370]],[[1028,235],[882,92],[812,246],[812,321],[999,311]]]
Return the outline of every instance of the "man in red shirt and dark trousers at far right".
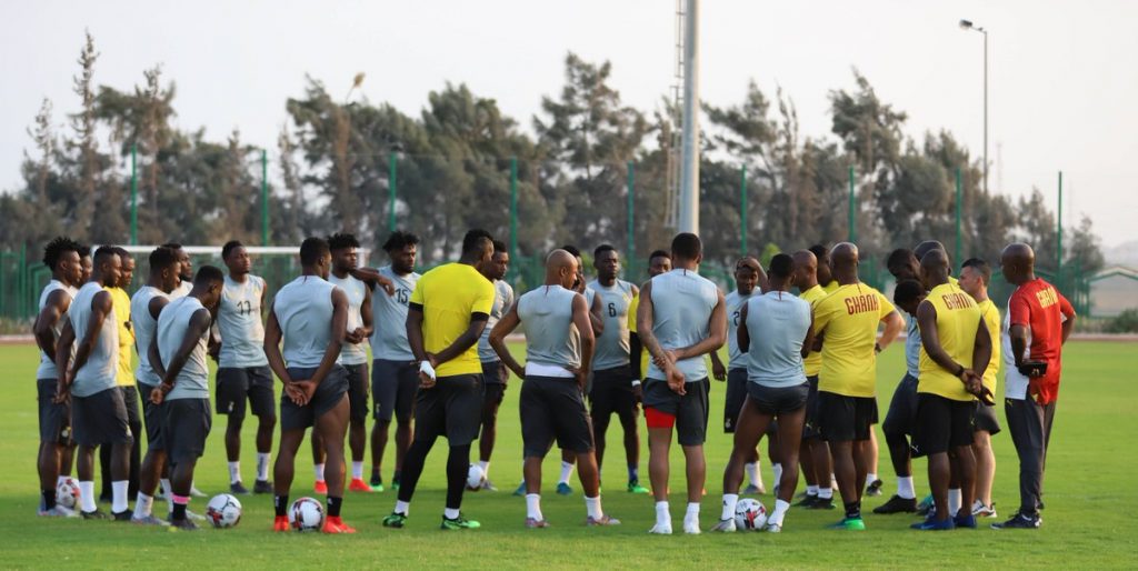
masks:
[[[1036,254],[1025,243],[1004,248],[1004,278],[1016,287],[1004,326],[1008,430],[1020,456],[1020,512],[996,529],[1037,529],[1041,523],[1044,466],[1059,391],[1063,344],[1074,329],[1074,308],[1054,286],[1036,276]]]

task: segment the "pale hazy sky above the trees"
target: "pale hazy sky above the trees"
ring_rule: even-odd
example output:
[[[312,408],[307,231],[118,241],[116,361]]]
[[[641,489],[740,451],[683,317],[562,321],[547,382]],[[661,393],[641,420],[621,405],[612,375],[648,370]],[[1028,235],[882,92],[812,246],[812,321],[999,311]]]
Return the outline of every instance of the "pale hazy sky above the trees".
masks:
[[[983,148],[983,38],[989,31],[989,188],[1039,188],[1052,208],[1063,172],[1064,216],[1086,214],[1105,246],[1138,240],[1138,2],[1118,0],[703,0],[700,94],[742,101],[754,80],[781,86],[803,135],[830,135],[827,93],[852,89],[857,68],[908,114],[905,133],[950,131]],[[142,83],[160,64],[176,83],[174,123],[223,140],[234,127],[275,147],[284,100],[305,76],[418,116],[427,94],[465,83],[531,129],[542,96],[563,84],[569,51],[612,63],[622,100],[651,111],[675,66],[671,0],[10,2],[0,18],[0,189],[20,184],[27,127],[43,98],[55,122],[72,93],[83,31],[101,53],[99,84]]]

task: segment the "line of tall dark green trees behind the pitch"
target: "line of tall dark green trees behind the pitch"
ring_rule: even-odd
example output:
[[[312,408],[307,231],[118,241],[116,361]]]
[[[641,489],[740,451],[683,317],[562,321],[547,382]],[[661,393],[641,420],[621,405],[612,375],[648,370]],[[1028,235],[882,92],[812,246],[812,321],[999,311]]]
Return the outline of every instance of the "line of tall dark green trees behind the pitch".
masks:
[[[90,242],[130,238],[130,164],[137,152],[138,241],[258,243],[261,149],[233,130],[224,139],[172,124],[175,84],[160,66],[130,89],[96,81],[100,55],[90,34],[80,50],[76,110],[57,124],[44,100],[28,127],[22,184],[0,196],[0,249],[39,248],[57,234]],[[564,243],[627,243],[628,165],[635,169],[637,254],[666,246],[667,188],[675,175],[676,109],[661,99],[645,111],[625,105],[609,63],[569,53],[564,81],[542,98],[530,130],[490,99],[446,83],[418,116],[387,102],[340,99],[308,78],[284,101],[286,124],[270,150],[272,243],[351,231],[376,247],[387,234],[388,175],[396,156],[399,227],[419,233],[424,263],[451,257],[468,227],[510,232],[510,169],[518,180],[520,254]],[[907,114],[853,72],[853,86],[830,91],[831,132],[803,135],[793,99],[753,81],[741,101],[703,105],[701,238],[709,257],[740,251],[741,171],[747,168],[750,249],[798,249],[848,235],[849,172],[855,173],[856,235],[863,251],[939,239],[953,249],[957,168],[963,182],[963,251],[995,259],[1017,239],[1054,270],[1055,214],[1038,189],[1013,200],[981,190],[983,165],[947,130],[920,140]],[[998,189],[1004,191],[1005,189]],[[1064,265],[1103,265],[1089,218],[1064,230]]]

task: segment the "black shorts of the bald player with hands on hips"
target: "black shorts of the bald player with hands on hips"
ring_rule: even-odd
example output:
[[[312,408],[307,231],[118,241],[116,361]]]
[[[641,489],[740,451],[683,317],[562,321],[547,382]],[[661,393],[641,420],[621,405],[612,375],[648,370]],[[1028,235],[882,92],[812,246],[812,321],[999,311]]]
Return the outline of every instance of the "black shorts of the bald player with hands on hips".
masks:
[[[527,375],[518,406],[525,457],[544,458],[554,440],[562,450],[593,450],[593,425],[576,379]]]

